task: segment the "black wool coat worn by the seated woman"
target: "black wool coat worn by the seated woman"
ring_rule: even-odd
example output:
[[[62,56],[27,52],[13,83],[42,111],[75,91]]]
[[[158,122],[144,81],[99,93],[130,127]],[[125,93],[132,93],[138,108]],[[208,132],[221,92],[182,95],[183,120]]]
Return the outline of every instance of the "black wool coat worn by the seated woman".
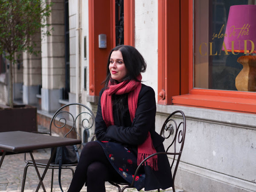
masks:
[[[128,111],[128,94],[123,96],[113,95],[113,117],[115,125],[106,127],[102,118],[101,96],[104,89],[99,94],[99,104],[96,113],[96,138],[100,141],[111,141],[130,148],[137,155],[137,146],[142,144],[150,131],[154,148],[157,152],[164,151],[163,141],[155,131],[156,102],[154,90],[142,84],[137,110],[133,122]],[[120,99],[121,98],[121,99]],[[124,105],[120,109],[119,103]],[[149,166],[143,166],[146,181],[145,190],[166,189],[172,186],[172,173],[166,155],[158,155],[158,171],[154,171]]]

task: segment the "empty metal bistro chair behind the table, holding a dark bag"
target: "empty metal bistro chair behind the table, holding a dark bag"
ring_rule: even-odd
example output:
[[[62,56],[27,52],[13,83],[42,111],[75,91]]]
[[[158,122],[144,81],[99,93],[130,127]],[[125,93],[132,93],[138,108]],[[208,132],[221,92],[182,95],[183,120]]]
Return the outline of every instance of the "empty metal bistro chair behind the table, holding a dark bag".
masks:
[[[79,111],[78,115],[76,115],[77,111]],[[86,131],[88,135],[89,129],[92,128],[93,125],[95,125],[95,116],[93,112],[90,110],[90,108],[80,103],[71,103],[71,104],[64,105],[63,107],[59,108],[58,111],[55,112],[50,122],[49,133],[47,134],[52,135],[52,132],[56,132],[62,135],[62,137],[81,139],[81,135],[76,130],[76,127],[84,128],[84,131]],[[77,148],[80,148],[80,146],[81,145],[79,145]],[[21,192],[24,191],[27,169],[29,166],[33,166],[32,160],[26,159],[26,153],[24,154],[24,160],[26,162],[26,166],[24,168],[24,173],[23,173]],[[39,159],[39,160],[35,160],[35,162],[39,168],[45,168],[47,166],[48,160],[49,159]],[[76,166],[77,166],[77,163],[62,164],[61,169],[70,169],[72,171],[72,174],[74,175],[73,168],[75,168]],[[54,172],[54,169],[59,169],[59,165],[55,165],[51,163],[49,166],[49,169],[52,169],[52,181],[51,181],[51,192],[52,192],[53,172]]]

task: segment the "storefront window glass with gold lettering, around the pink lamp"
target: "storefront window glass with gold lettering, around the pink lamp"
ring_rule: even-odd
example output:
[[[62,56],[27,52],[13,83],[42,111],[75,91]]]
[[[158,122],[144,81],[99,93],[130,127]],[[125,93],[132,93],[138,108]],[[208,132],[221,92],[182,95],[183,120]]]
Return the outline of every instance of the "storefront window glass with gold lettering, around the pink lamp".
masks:
[[[230,6],[256,5],[256,0],[195,0],[194,2],[194,87],[238,90],[235,79],[243,66],[237,62],[237,59],[245,54],[243,52],[227,54],[222,50],[227,19]],[[256,32],[251,33],[256,35]],[[254,44],[256,49],[256,42]]]

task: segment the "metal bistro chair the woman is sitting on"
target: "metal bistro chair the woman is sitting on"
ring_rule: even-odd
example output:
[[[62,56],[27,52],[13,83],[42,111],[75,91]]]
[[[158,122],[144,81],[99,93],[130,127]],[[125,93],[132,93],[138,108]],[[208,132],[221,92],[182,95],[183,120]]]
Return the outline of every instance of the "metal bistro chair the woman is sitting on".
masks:
[[[181,115],[181,120],[178,115]],[[179,122],[179,123],[177,123]],[[118,188],[118,192],[124,192],[126,188],[134,188],[134,180],[136,178],[136,175],[140,169],[140,167],[143,165],[143,163],[148,159],[153,157],[154,155],[158,154],[167,154],[168,157],[171,157],[171,168],[173,175],[172,175],[172,190],[175,192],[175,175],[178,169],[178,165],[180,162],[180,156],[182,153],[184,140],[185,140],[185,134],[186,134],[186,117],[182,111],[175,111],[172,114],[170,114],[165,122],[163,123],[163,126],[160,131],[160,135],[162,135],[166,140],[164,142],[166,152],[158,152],[155,154],[151,154],[147,158],[145,158],[138,168],[136,169],[136,172],[134,174],[134,179],[132,180],[132,183],[117,183],[115,181],[109,181],[113,186],[116,186]],[[170,151],[169,151],[170,150]],[[171,152],[172,151],[172,152]],[[125,185],[121,187],[120,185]],[[158,189],[158,192],[160,192],[160,189]]]

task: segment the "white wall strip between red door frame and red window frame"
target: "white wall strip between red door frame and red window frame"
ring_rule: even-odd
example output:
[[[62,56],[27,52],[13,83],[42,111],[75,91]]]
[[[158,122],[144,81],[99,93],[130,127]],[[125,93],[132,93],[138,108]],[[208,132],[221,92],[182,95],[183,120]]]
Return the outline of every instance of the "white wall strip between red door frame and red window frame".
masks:
[[[135,1],[135,47],[147,62],[143,83],[152,87],[157,99],[157,0]]]

